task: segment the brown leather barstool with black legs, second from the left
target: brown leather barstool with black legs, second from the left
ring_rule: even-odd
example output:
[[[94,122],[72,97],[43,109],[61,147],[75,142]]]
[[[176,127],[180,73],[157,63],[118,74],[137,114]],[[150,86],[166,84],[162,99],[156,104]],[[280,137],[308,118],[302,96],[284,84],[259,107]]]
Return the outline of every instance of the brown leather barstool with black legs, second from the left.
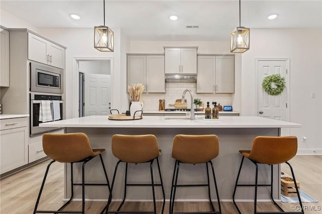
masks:
[[[115,166],[115,171],[113,175],[113,181],[111,185],[111,191],[108,199],[107,205],[104,207],[103,213],[154,213],[156,214],[156,203],[155,203],[155,194],[154,186],[161,186],[163,192],[163,206],[162,212],[165,208],[165,190],[163,187],[162,176],[159,166],[158,157],[161,155],[161,150],[158,149],[158,144],[156,137],[154,135],[113,135],[112,137],[112,153],[119,159]],[[159,172],[160,183],[155,184],[153,179],[153,161],[156,160],[157,168]],[[115,176],[119,163],[124,162],[125,164],[125,182],[124,182],[124,197],[117,211],[109,211],[109,205],[112,201],[112,191],[115,181]],[[129,184],[127,183],[127,166],[128,163],[138,164],[138,163],[150,163],[150,173],[151,173],[151,183],[149,184]],[[127,186],[152,186],[153,194],[153,211],[120,211],[121,206],[123,205],[126,197],[126,187]]]

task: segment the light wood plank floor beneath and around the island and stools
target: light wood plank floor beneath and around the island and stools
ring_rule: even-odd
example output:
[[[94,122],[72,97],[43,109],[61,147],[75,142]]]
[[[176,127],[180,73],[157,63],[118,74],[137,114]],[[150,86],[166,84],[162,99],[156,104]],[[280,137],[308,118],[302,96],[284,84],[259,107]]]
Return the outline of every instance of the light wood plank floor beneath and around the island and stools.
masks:
[[[38,191],[49,161],[45,161],[22,172],[4,178],[0,181],[0,213],[33,213]],[[295,176],[300,181],[300,187],[310,196],[317,199],[317,203],[303,203],[305,213],[322,213],[322,156],[296,156],[290,161]],[[291,174],[286,164],[282,170]],[[46,190],[40,202],[41,209],[57,209],[63,198],[63,164],[53,164],[46,181]],[[106,202],[87,201],[86,213],[100,213]],[[115,210],[119,202],[113,202],[111,210]],[[214,203],[216,204],[216,203]],[[297,203],[280,203],[285,210],[291,211],[292,205]],[[253,203],[238,203],[242,213],[252,213]],[[162,203],[157,203],[160,213]],[[152,210],[152,202],[126,202],[123,210]],[[216,207],[216,205],[215,205]],[[237,213],[232,202],[221,202],[222,213]],[[81,209],[81,202],[74,201],[68,209]],[[206,202],[177,202],[175,211],[205,211],[210,210]],[[66,209],[67,210],[67,209]],[[278,211],[270,202],[259,202],[258,211]],[[169,213],[169,203],[166,203],[165,212]]]

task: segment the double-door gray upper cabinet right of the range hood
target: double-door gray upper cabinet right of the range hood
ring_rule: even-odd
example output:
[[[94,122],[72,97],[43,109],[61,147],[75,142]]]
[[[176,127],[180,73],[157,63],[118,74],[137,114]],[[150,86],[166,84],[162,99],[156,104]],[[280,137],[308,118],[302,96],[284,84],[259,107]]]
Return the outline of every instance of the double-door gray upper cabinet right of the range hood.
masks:
[[[234,84],[234,56],[198,56],[197,93],[234,93]]]

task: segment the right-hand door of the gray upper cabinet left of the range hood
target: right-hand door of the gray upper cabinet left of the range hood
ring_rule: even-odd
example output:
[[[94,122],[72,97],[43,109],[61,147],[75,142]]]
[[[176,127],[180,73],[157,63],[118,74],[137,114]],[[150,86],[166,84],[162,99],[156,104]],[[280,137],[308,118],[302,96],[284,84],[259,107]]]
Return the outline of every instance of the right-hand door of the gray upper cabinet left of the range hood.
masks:
[[[146,92],[166,92],[165,56],[146,56]]]

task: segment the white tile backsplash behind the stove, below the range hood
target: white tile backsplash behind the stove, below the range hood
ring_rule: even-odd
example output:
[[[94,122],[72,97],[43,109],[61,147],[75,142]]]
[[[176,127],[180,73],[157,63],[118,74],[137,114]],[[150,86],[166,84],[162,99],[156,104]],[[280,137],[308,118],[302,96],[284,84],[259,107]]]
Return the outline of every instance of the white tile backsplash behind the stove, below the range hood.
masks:
[[[144,111],[158,111],[159,108],[159,99],[166,100],[166,109],[171,109],[174,107],[169,106],[169,104],[174,104],[176,99],[182,98],[182,93],[185,89],[190,88],[193,92],[194,98],[199,98],[201,101],[206,104],[209,101],[210,106],[212,108],[212,101],[216,101],[217,104],[223,105],[231,105],[231,97],[230,93],[196,93],[196,83],[190,82],[166,82],[166,93],[143,93],[141,96],[141,100],[144,103],[143,110]],[[190,109],[190,94],[186,93],[185,98],[187,99],[187,108]]]

